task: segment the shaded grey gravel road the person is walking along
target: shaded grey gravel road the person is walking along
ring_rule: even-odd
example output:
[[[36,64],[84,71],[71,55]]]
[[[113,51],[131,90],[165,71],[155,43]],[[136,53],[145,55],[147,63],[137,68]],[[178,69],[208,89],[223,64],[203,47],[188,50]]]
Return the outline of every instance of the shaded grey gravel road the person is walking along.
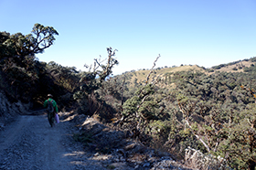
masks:
[[[0,169],[105,169],[72,140],[70,122],[51,128],[47,115],[18,116],[0,132]]]

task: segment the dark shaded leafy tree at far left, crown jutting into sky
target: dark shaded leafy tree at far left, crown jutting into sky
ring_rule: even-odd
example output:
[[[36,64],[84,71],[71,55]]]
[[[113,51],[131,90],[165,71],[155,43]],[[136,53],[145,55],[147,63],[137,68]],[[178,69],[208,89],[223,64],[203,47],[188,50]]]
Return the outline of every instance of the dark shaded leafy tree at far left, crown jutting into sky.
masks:
[[[7,82],[8,87],[5,90],[10,98],[31,101],[40,96],[44,86],[53,85],[52,80],[47,78],[44,63],[39,62],[35,54],[49,48],[56,35],[58,32],[53,27],[40,24],[35,24],[32,34],[28,35],[0,32],[0,73],[3,75],[1,83]],[[47,81],[41,85],[45,79]]]

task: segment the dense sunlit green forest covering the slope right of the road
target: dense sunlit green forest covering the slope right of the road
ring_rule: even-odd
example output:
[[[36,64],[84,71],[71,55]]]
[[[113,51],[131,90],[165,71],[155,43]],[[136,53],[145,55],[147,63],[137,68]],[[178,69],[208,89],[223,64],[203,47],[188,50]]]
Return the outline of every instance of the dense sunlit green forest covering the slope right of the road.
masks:
[[[177,158],[190,146],[221,156],[232,168],[254,168],[255,76],[254,65],[247,73],[165,74],[124,102],[122,126],[137,127],[142,141],[146,135]]]

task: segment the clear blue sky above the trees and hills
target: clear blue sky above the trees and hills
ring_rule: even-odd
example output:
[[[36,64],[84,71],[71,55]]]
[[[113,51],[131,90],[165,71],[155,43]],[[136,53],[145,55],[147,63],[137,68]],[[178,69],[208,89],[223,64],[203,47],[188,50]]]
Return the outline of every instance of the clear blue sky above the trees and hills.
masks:
[[[255,0],[0,0],[0,31],[36,23],[59,36],[40,61],[84,70],[118,49],[113,74],[181,64],[210,68],[256,57]]]

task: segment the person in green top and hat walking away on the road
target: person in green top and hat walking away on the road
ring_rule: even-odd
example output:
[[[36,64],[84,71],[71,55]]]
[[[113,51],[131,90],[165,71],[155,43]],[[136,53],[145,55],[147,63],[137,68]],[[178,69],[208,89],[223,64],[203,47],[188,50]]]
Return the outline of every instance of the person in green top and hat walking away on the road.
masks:
[[[48,122],[51,127],[55,125],[55,114],[58,114],[57,103],[52,98],[53,96],[48,94],[48,100],[44,102],[44,107],[47,108],[48,112]]]

